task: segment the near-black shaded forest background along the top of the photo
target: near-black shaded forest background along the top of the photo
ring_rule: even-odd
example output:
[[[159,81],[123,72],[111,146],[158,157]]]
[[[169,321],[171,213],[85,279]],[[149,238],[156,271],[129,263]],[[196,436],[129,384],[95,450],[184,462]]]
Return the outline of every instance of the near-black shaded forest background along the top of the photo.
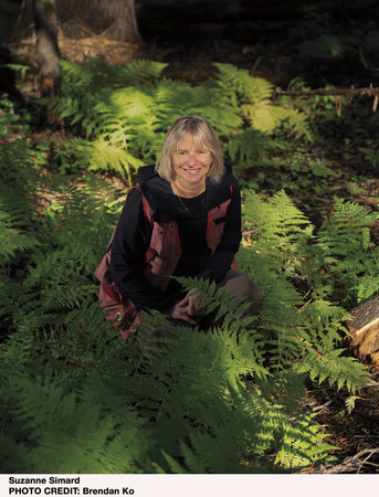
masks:
[[[31,18],[22,29],[20,25],[14,29],[21,3],[21,0],[0,1],[2,45],[21,40],[32,30]],[[211,62],[229,62],[249,70],[254,67],[255,75],[282,87],[295,76],[303,77],[312,87],[326,83],[365,86],[377,81],[378,7],[377,0],[137,0],[143,38],[137,55],[168,62],[170,76],[188,81],[209,77]],[[77,10],[76,14],[80,17],[81,12]],[[82,21],[60,21],[67,36],[88,36],[78,27]],[[323,34],[339,38],[344,53],[317,57],[304,52],[305,42]],[[359,46],[369,61],[365,60],[366,65]]]

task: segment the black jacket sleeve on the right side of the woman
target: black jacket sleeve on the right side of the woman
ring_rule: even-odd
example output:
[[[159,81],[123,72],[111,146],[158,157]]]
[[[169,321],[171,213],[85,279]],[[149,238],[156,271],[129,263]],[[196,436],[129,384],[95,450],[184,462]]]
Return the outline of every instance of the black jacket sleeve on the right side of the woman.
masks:
[[[219,246],[209,260],[204,269],[198,274],[198,278],[220,283],[231,268],[234,255],[241,243],[241,192],[238,181],[233,177],[233,193],[228,207],[224,232]]]

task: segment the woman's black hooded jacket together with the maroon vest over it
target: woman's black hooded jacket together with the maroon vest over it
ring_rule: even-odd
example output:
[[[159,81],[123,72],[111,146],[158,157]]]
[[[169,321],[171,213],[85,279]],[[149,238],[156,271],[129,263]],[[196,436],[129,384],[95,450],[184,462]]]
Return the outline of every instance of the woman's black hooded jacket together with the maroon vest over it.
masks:
[[[227,170],[219,184],[207,180],[202,195],[180,201],[151,166],[139,169],[138,183],[115,230],[107,274],[95,274],[126,309],[168,313],[180,298],[171,275],[220,282],[230,269],[241,241],[240,189]]]

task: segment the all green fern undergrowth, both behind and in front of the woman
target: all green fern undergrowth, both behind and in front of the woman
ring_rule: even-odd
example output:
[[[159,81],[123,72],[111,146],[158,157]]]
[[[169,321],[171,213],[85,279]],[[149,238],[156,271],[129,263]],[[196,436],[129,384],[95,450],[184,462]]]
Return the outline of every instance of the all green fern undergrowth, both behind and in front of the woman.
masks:
[[[76,138],[35,148],[22,137],[0,149],[3,473],[275,473],[334,461],[338,447],[302,399],[306,382],[351,399],[367,383],[344,338],[347,309],[378,287],[369,235],[377,214],[336,198],[316,226],[287,186],[259,194],[265,168],[280,167],[272,151],[288,151],[291,137],[313,138],[310,114],[274,101],[269,82],[217,66],[217,78],[191,86],[165,78],[160,63],[64,62],[63,95],[49,105]],[[22,135],[7,107],[8,133]],[[221,325],[203,332],[151,313],[138,335],[155,326],[176,339],[131,345],[98,308],[92,273],[123,205],[92,171],[133,182],[172,120],[193,112],[211,121],[239,172],[260,171],[241,178],[245,235],[236,258],[263,288],[263,308],[244,317],[243,303],[227,306],[213,285],[183,279],[219,308]],[[52,147],[62,176],[42,172]],[[291,165],[298,177],[301,161]],[[334,175],[307,166],[307,181]],[[73,186],[64,173],[78,170]]]

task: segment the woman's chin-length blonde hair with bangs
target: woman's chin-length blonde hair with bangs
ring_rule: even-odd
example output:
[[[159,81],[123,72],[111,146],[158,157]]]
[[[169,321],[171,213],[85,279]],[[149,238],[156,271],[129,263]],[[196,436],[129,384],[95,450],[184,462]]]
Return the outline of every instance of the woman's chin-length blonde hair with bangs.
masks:
[[[165,137],[164,147],[157,160],[155,170],[167,181],[172,181],[175,179],[172,155],[180,147],[180,142],[187,133],[192,135],[197,146],[204,147],[211,152],[213,160],[208,178],[213,183],[219,183],[225,169],[221,146],[211,125],[198,114],[180,117],[173,123]]]

